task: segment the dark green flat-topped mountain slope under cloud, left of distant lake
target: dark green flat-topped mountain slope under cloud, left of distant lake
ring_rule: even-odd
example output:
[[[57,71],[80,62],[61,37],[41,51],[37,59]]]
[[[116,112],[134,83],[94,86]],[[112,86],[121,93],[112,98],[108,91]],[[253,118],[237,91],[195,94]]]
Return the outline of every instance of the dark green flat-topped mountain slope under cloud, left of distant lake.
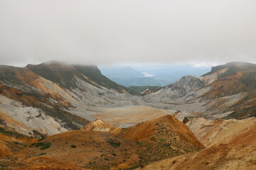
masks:
[[[73,65],[69,66],[61,64],[59,62],[43,63],[39,65],[28,64],[28,69],[40,75],[41,77],[55,82],[56,84],[63,86],[67,89],[79,88],[75,82],[75,77],[86,81],[92,86],[97,88],[105,87],[107,89],[114,89],[119,93],[130,93],[133,95],[139,95],[135,91],[128,89],[124,86],[111,81],[107,77],[103,76],[96,66],[82,66]]]

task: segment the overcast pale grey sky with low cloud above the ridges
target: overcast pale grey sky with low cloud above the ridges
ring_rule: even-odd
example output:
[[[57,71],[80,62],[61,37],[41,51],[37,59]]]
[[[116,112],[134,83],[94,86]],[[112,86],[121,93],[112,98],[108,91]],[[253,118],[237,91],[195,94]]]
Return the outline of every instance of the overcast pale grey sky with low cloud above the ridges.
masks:
[[[0,64],[256,63],[255,0],[1,0]]]

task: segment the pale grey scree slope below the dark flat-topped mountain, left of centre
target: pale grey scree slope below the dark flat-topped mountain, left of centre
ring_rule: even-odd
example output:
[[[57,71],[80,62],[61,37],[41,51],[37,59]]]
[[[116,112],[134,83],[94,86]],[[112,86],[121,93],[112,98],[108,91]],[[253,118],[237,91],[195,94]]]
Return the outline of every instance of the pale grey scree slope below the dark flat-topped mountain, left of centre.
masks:
[[[106,89],[98,89],[81,79],[76,78],[76,83],[83,89],[72,89],[70,96],[75,98],[74,101],[68,101],[75,108],[70,108],[70,112],[79,115],[88,120],[94,120],[96,114],[103,113],[101,108],[119,108],[127,106],[144,105],[145,101],[139,96],[130,94],[119,94],[117,91]]]

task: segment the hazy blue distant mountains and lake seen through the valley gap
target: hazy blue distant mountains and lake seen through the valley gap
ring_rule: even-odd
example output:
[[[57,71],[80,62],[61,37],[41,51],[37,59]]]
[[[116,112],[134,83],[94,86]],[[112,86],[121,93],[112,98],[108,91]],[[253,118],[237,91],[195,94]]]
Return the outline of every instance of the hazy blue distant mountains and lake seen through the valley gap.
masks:
[[[201,76],[210,67],[191,65],[144,65],[132,67],[100,67],[103,75],[123,86],[166,86],[185,75]]]

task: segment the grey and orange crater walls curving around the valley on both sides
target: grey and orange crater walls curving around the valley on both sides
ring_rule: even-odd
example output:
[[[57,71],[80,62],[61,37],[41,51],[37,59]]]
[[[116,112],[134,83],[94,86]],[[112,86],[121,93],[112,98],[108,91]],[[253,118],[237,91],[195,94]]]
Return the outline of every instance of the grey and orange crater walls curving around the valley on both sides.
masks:
[[[104,115],[106,108],[128,106],[182,111],[189,118],[248,118],[255,116],[255,72],[255,64],[230,62],[213,67],[203,77],[184,76],[163,87],[127,88],[102,75],[96,66],[58,62],[23,68],[2,65],[0,115],[8,118],[5,127],[18,121],[21,124],[14,130],[31,136],[76,130]],[[130,67],[121,73],[124,78],[142,76]],[[134,123],[122,126],[129,125]]]

